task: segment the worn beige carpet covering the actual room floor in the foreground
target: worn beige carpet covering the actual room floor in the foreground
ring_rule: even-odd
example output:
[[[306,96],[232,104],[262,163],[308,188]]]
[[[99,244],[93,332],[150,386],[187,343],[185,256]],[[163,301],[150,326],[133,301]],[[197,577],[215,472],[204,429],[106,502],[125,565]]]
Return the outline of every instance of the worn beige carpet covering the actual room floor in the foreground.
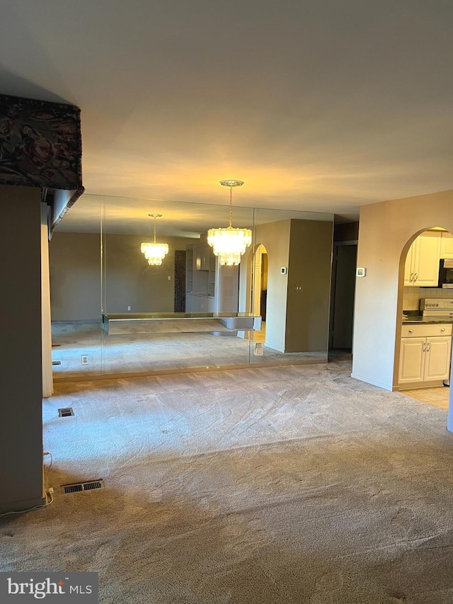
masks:
[[[1,570],[98,571],[109,604],[453,603],[446,423],[347,361],[62,382],[48,484],[105,489],[1,518]]]

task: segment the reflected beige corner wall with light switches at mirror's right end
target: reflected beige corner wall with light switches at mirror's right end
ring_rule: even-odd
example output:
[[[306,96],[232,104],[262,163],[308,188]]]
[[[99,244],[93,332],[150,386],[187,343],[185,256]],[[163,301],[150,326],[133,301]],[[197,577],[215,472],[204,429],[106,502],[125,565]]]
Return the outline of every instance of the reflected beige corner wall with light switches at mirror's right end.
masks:
[[[292,219],[256,227],[256,247],[262,244],[268,254],[266,346],[327,352],[332,239],[332,222]],[[294,292],[295,285],[303,292]]]

